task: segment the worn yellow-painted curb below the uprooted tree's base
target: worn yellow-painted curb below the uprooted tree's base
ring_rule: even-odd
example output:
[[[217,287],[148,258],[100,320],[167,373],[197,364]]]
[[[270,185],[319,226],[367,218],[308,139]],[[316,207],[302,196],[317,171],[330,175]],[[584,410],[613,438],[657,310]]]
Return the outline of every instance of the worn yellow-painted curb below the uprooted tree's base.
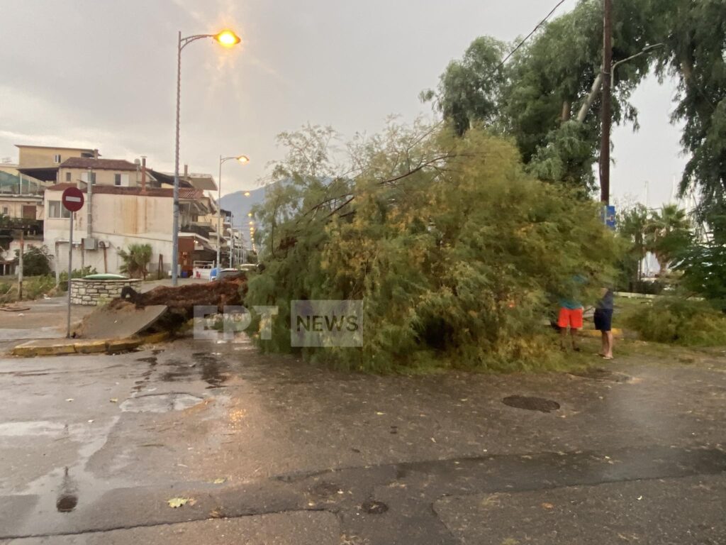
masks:
[[[156,344],[168,340],[166,331],[126,339],[51,339],[35,340],[18,344],[10,352],[14,356],[35,358],[36,356],[62,356],[70,354],[115,354],[140,347],[142,344]]]

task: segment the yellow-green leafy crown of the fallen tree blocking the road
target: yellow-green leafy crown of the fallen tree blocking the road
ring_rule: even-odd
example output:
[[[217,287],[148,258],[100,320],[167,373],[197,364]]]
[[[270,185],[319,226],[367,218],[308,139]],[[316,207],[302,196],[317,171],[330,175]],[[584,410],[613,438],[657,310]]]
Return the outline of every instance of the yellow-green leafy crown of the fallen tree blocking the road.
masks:
[[[547,366],[551,294],[612,273],[617,244],[597,206],[530,177],[480,129],[391,124],[348,149],[346,175],[280,166],[287,182],[256,210],[266,269],[245,304],[280,307],[263,347],[290,350],[293,299],[362,299],[362,349],[307,355],[368,371]]]

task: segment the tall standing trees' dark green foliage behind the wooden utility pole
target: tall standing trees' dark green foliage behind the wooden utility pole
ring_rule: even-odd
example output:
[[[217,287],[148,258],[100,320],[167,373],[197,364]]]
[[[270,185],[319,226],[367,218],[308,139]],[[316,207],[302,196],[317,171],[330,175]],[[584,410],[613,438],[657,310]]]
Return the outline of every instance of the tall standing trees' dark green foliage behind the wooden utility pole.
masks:
[[[637,129],[629,100],[653,65],[660,76],[677,78],[673,119],[682,122],[682,145],[690,153],[681,189],[703,192],[702,214],[726,196],[724,36],[723,0],[613,3],[613,121]],[[422,97],[436,99],[457,134],[483,122],[515,138],[532,174],[587,192],[595,185],[600,141],[602,40],[602,2],[580,0],[504,65],[500,42],[476,39],[462,60],[449,63],[436,92]]]

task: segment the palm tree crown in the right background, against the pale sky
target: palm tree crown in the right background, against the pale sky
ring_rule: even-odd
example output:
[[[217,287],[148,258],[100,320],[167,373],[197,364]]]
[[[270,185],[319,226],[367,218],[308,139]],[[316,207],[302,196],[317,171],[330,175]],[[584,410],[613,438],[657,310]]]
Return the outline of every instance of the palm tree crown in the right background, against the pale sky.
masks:
[[[655,254],[661,274],[688,248],[692,235],[690,219],[677,204],[664,204],[660,212],[650,214],[645,225],[645,246]]]

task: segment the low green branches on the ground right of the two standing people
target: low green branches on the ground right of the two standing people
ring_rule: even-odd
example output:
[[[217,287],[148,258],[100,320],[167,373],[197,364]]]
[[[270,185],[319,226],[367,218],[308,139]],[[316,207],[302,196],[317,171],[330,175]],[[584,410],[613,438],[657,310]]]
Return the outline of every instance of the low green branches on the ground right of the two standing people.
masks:
[[[726,315],[703,301],[677,297],[656,299],[626,320],[646,341],[714,346],[726,344]]]

